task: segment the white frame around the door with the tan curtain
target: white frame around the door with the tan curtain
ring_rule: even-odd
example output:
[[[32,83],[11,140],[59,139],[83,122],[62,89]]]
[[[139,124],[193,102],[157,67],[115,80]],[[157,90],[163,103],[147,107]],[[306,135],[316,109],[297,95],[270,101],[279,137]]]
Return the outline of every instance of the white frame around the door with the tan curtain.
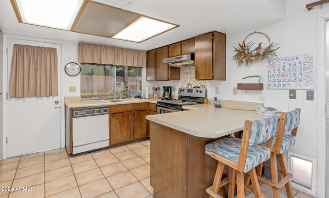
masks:
[[[64,115],[64,96],[63,96],[63,69],[62,69],[62,65],[64,65],[64,42],[59,42],[59,41],[54,41],[54,40],[45,40],[45,39],[39,39],[39,38],[32,38],[32,37],[28,37],[28,36],[21,36],[21,35],[11,35],[11,34],[7,34],[5,32],[3,32],[3,79],[2,79],[2,90],[3,90],[3,111],[2,111],[2,116],[3,116],[3,136],[1,137],[2,141],[3,141],[3,159],[7,159],[7,143],[6,143],[6,137],[8,136],[7,134],[7,129],[8,129],[8,120],[7,120],[7,94],[9,94],[9,90],[8,90],[8,55],[7,55],[7,48],[8,48],[8,40],[9,39],[17,39],[17,40],[26,40],[26,41],[33,41],[33,42],[43,42],[43,43],[52,43],[52,44],[58,44],[61,45],[61,51],[58,52],[58,56],[61,56],[61,62],[58,63],[58,67],[60,69],[60,76],[59,81],[60,81],[60,92],[61,92],[61,113],[60,113],[60,147],[64,148],[65,146],[65,115]]]

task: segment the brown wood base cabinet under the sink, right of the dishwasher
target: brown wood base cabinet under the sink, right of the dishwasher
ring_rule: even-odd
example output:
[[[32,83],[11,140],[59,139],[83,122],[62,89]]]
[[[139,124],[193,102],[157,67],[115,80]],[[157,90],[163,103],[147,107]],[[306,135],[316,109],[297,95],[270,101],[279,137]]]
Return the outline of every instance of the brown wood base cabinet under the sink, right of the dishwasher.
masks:
[[[111,106],[110,146],[116,143],[149,137],[147,128],[148,103]]]

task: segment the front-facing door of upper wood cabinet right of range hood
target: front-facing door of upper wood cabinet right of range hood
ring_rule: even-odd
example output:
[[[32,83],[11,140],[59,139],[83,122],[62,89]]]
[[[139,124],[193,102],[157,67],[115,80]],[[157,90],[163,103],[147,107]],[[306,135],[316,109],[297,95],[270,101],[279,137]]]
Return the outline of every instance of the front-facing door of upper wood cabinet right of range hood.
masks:
[[[213,75],[212,33],[195,37],[195,79],[211,80]]]

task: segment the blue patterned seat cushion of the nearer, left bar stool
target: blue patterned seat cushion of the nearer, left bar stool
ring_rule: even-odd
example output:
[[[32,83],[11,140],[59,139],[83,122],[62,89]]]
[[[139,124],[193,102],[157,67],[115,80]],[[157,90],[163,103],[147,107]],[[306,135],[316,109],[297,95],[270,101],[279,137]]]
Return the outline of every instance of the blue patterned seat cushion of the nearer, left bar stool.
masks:
[[[235,137],[225,137],[218,139],[205,146],[206,154],[211,152],[224,156],[232,161],[238,163],[241,149],[241,139]],[[252,168],[258,166],[263,161],[270,157],[270,149],[259,145],[252,145],[248,147],[246,164],[243,172],[249,172]]]

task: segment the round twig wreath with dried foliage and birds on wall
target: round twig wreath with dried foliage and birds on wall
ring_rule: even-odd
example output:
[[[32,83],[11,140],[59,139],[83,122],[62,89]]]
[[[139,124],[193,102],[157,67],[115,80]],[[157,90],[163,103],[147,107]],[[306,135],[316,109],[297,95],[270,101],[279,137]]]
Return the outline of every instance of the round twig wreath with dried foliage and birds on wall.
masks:
[[[251,36],[254,35],[262,35],[265,37],[265,40],[262,41],[262,38],[257,38],[259,41],[258,45],[254,45],[254,41],[248,41],[251,39]],[[264,39],[264,38],[263,38]],[[268,42],[268,43],[267,43]],[[267,34],[262,32],[252,32],[247,35],[247,37],[243,40],[242,43],[239,43],[234,47],[235,55],[232,56],[232,60],[237,63],[236,67],[239,68],[241,65],[249,66],[253,62],[262,61],[264,59],[271,60],[272,58],[276,58],[276,50],[280,47],[276,47],[278,44],[274,44],[274,42],[270,42],[270,39]]]

